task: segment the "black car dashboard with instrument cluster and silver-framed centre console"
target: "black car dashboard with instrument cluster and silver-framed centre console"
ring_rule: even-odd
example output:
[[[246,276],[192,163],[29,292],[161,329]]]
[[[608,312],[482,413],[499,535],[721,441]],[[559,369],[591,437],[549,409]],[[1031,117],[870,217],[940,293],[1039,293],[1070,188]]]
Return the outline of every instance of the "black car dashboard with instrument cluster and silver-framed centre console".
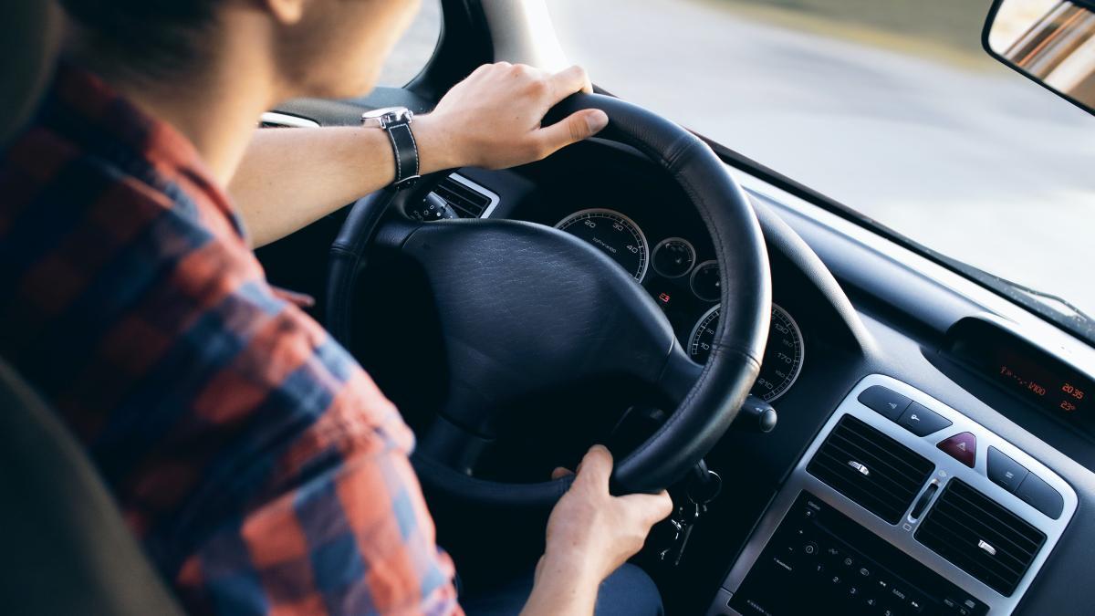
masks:
[[[528,220],[598,248],[702,363],[722,281],[702,220],[653,170],[591,140],[516,170],[458,170],[435,194],[440,217]],[[641,560],[668,613],[1091,613],[1095,352],[799,195],[746,189],[773,286],[753,392],[780,422],[731,430],[712,449],[708,467],[731,479],[679,567]],[[297,265],[303,241],[266,252],[276,283],[292,267],[274,253]],[[283,284],[313,290],[313,280]],[[446,539],[458,562],[483,551],[476,540],[461,556]]]

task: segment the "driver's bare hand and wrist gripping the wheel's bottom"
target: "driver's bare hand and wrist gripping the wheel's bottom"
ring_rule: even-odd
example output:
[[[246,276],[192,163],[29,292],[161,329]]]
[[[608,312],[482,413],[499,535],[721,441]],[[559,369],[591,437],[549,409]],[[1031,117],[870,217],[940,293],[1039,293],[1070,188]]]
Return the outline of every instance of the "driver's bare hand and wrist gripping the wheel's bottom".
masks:
[[[556,475],[557,476],[557,475]],[[548,520],[548,544],[522,616],[589,616],[600,583],[672,513],[669,494],[609,493],[612,454],[597,445]]]

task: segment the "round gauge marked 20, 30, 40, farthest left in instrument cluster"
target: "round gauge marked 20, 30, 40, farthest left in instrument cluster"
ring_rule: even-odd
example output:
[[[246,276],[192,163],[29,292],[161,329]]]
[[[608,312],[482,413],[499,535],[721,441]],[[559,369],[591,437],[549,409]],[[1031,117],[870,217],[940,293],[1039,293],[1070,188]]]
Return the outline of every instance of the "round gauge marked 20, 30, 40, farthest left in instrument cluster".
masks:
[[[629,274],[642,282],[650,250],[646,236],[634,220],[614,209],[583,209],[555,225],[556,229],[577,236],[608,254]]]

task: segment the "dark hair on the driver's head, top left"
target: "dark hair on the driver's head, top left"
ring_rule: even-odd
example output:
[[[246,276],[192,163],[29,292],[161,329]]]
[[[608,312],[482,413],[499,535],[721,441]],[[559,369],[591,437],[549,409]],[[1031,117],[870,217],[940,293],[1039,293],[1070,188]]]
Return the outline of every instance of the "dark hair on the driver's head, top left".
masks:
[[[204,28],[221,0],[60,0],[93,36],[96,52],[126,70],[163,75],[184,70],[200,56]]]

